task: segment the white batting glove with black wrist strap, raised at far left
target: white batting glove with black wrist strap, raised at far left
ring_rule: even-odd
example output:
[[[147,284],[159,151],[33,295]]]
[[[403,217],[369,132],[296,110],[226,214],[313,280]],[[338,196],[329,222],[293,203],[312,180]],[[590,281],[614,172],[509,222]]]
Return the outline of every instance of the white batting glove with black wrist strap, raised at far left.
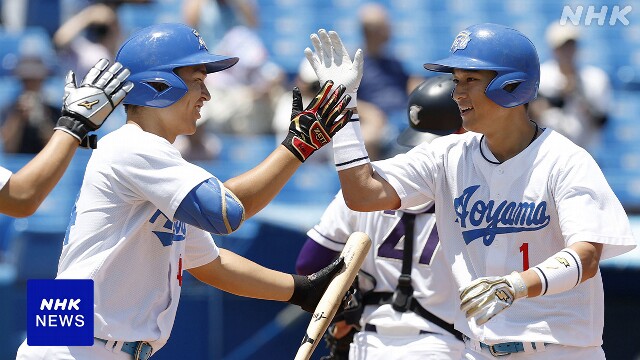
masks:
[[[95,149],[95,136],[87,137],[87,134],[99,129],[133,88],[131,82],[125,82],[129,77],[129,70],[117,62],[109,69],[107,66],[108,60],[98,61],[84,77],[80,87],[76,85],[73,71],[67,74],[62,116],[55,129],[75,137],[83,147]]]

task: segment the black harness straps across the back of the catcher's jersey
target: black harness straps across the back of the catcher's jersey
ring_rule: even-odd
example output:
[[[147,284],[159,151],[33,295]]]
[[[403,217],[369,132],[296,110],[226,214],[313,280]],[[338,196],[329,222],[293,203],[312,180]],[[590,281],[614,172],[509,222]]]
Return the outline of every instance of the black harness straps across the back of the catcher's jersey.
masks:
[[[433,207],[425,212],[433,212]],[[390,292],[373,292],[365,294],[363,297],[364,305],[383,305],[391,304],[393,309],[398,312],[412,311],[424,319],[438,325],[447,330],[453,336],[462,340],[462,334],[450,324],[436,315],[432,314],[413,297],[413,285],[411,285],[411,266],[413,262],[413,242],[414,227],[416,215],[403,212],[402,223],[404,225],[404,249],[402,255],[402,273],[398,278],[398,285],[393,293]],[[435,228],[433,231],[437,231]]]

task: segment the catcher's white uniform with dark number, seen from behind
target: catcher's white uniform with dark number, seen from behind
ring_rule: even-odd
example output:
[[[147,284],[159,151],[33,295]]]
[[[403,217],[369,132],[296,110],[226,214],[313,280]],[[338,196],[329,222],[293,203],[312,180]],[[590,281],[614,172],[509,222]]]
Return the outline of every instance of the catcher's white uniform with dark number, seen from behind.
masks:
[[[414,297],[423,308],[453,323],[458,311],[458,292],[451,269],[439,251],[435,217],[425,210],[423,208],[415,219],[411,271]],[[397,211],[350,210],[340,192],[307,235],[318,244],[340,252],[353,232],[368,234],[372,246],[361,270],[376,279],[375,292],[393,292],[402,268],[404,225],[401,217],[402,213]],[[411,311],[397,312],[391,304],[366,306],[360,322],[362,327],[375,325],[377,331],[354,336],[350,359],[424,359],[427,355],[434,359],[460,359],[462,356],[464,344],[451,333]],[[420,330],[430,333],[418,335]]]

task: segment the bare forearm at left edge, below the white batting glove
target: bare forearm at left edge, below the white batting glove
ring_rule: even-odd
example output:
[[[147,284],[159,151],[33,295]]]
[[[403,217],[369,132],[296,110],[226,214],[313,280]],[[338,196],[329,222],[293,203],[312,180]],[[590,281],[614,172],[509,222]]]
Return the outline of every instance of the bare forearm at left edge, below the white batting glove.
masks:
[[[44,149],[2,188],[0,212],[15,217],[33,214],[64,174],[78,145],[69,134],[55,131]]]

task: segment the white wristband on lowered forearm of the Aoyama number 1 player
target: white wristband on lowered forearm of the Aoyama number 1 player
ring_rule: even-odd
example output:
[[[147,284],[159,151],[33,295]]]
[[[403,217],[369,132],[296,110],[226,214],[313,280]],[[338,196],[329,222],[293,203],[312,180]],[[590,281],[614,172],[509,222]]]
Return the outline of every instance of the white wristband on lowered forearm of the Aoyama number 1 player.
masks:
[[[553,295],[571,290],[582,282],[582,262],[573,249],[563,249],[552,255],[533,271],[540,278],[540,295]]]

